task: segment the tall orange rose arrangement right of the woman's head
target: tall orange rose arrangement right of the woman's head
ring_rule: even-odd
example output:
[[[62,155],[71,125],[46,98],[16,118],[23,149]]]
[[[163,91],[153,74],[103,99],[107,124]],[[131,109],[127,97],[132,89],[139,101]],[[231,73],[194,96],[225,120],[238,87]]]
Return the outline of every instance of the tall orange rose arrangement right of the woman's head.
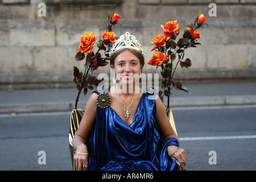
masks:
[[[155,44],[155,47],[150,51],[155,51],[155,53],[147,63],[156,65],[156,69],[158,67],[162,69],[160,73],[164,80],[161,82],[161,85],[164,91],[159,91],[159,96],[162,100],[163,96],[168,97],[167,107],[170,107],[170,96],[173,88],[188,92],[187,88],[183,86],[182,80],[174,81],[173,77],[178,64],[180,64],[181,68],[191,67],[192,61],[189,58],[184,60],[185,49],[201,44],[197,42],[201,38],[198,30],[206,24],[204,23],[205,20],[207,18],[204,14],[201,14],[196,17],[193,24],[188,23],[183,37],[178,39],[177,42],[175,40],[179,35],[180,27],[177,20],[170,20],[166,22],[165,26],[161,24],[160,28],[162,28],[163,34],[156,35],[151,42]],[[176,65],[175,60],[177,61]]]

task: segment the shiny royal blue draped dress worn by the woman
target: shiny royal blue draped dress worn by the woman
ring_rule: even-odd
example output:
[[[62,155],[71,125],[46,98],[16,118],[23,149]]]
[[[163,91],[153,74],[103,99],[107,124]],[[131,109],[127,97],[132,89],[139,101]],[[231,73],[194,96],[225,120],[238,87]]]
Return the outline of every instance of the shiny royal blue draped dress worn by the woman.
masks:
[[[97,94],[108,90],[96,90]],[[143,93],[131,125],[112,107],[97,106],[94,125],[86,146],[90,171],[168,171],[176,163],[168,156],[167,146],[179,146],[175,138],[164,141],[156,123],[155,95]]]

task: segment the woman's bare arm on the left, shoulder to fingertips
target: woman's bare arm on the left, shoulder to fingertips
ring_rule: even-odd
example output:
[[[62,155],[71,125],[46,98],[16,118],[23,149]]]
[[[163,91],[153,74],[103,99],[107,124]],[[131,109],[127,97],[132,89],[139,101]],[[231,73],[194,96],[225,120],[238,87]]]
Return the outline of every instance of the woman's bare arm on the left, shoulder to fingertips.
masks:
[[[84,169],[82,168],[82,165],[87,163],[87,155],[84,155],[88,153],[85,142],[90,133],[90,129],[92,129],[94,120],[96,118],[97,96],[98,96],[97,93],[93,93],[90,96],[86,104],[84,115],[79,125],[79,129],[77,130],[72,140],[72,145],[76,149],[76,152],[83,153],[83,154],[75,154],[74,156],[74,162],[75,162],[77,171]]]

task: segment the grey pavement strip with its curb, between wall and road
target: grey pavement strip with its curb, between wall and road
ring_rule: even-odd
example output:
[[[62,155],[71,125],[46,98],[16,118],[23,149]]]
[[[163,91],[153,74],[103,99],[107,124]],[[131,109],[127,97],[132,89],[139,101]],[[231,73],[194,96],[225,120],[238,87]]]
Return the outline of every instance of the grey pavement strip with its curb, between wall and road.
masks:
[[[184,81],[191,94],[182,90],[171,90],[171,107],[255,105],[256,81],[225,81],[216,83],[189,84]],[[34,90],[0,90],[0,114],[39,113],[71,111],[75,108],[77,96],[74,88],[34,89]],[[92,91],[86,96],[82,93],[77,108],[84,108]],[[167,103],[167,97],[164,97]]]

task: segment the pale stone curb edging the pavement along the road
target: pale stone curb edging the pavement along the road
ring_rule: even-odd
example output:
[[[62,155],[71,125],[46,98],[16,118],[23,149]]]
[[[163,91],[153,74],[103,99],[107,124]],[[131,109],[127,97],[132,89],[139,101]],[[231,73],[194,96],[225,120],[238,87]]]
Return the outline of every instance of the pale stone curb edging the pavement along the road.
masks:
[[[164,100],[165,101],[165,100]],[[205,97],[176,97],[171,100],[171,107],[197,106],[231,106],[256,105],[256,95],[240,96],[205,96]],[[79,102],[77,108],[84,109],[85,101]],[[0,114],[10,113],[49,113],[71,111],[75,108],[74,101],[67,102],[34,102],[24,104],[0,104]]]

